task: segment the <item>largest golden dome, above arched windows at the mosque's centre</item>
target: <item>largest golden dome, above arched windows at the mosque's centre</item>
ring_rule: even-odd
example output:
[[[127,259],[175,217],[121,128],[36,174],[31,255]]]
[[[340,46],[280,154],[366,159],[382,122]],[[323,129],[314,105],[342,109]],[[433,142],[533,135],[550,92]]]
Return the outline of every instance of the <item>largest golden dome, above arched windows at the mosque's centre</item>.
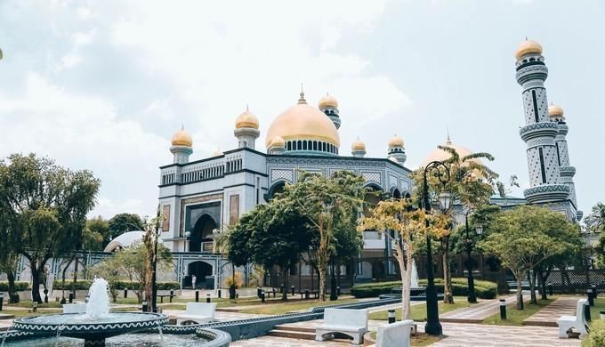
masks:
[[[319,140],[339,147],[338,131],[330,118],[308,105],[303,97],[301,100],[273,119],[265,138],[265,146],[269,148],[271,141],[280,136],[284,141]]]

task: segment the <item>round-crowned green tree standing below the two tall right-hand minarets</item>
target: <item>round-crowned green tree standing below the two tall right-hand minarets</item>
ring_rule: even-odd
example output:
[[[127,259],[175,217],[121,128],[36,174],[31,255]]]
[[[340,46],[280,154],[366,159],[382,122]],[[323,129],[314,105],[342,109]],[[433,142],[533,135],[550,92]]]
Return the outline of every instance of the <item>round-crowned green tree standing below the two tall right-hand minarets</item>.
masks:
[[[575,226],[565,215],[544,207],[518,206],[501,212],[492,224],[491,234],[480,241],[480,248],[495,254],[517,278],[517,309],[521,310],[521,280],[549,257],[561,256],[577,245],[569,242]],[[577,232],[577,230],[575,231]],[[563,237],[563,238],[561,238]],[[536,303],[535,282],[530,279],[532,303]]]

